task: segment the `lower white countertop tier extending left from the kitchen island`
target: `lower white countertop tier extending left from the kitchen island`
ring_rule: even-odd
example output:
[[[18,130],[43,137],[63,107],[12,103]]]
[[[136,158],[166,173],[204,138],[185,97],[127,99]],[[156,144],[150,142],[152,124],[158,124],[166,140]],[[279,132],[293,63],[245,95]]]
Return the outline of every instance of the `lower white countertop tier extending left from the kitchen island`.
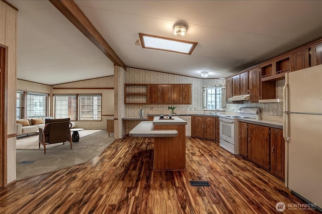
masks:
[[[176,137],[177,130],[153,130],[152,121],[142,121],[129,133],[131,137]]]

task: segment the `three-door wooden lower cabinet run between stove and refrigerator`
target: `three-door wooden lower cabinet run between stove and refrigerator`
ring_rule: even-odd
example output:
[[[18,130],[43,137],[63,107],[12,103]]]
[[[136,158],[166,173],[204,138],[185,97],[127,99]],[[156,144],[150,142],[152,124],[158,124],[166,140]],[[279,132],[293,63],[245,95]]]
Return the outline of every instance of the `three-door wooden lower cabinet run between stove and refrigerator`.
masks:
[[[285,178],[285,141],[283,130],[238,122],[239,154]]]

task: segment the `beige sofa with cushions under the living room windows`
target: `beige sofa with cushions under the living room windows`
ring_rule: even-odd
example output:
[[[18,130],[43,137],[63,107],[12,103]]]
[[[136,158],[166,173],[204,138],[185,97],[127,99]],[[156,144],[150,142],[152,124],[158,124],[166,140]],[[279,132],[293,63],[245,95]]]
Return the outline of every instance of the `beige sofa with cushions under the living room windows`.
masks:
[[[17,120],[17,136],[36,133],[39,131],[39,128],[45,127],[45,120],[52,119],[51,117],[39,117],[39,118],[28,118],[28,119],[19,119]],[[76,127],[75,122],[70,122],[71,128]]]

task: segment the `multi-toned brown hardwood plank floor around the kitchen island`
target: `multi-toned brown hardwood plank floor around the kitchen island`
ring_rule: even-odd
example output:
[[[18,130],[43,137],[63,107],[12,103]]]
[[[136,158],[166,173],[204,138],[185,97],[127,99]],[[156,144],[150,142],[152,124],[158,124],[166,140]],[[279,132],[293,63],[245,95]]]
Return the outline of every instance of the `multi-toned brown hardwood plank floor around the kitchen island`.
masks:
[[[218,143],[187,138],[185,171],[152,171],[153,139],[124,137],[93,160],[0,189],[0,213],[319,213]],[[210,186],[191,186],[207,180]]]

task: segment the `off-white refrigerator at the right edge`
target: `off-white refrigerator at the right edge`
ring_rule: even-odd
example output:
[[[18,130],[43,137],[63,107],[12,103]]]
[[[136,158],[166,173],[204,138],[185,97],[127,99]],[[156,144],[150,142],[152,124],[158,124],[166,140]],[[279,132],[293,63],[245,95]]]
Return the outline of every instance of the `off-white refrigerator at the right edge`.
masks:
[[[322,208],[322,65],[285,74],[285,185]]]

